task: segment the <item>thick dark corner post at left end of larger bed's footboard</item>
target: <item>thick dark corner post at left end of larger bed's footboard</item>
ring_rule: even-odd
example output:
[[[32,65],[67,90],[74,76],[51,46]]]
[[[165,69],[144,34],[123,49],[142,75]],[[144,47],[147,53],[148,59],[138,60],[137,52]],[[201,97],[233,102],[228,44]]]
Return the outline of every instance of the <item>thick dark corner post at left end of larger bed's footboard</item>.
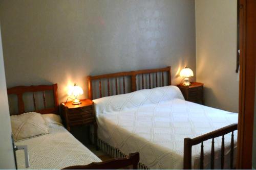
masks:
[[[191,169],[191,158],[192,158],[192,139],[184,139],[184,160],[183,160],[183,169]]]

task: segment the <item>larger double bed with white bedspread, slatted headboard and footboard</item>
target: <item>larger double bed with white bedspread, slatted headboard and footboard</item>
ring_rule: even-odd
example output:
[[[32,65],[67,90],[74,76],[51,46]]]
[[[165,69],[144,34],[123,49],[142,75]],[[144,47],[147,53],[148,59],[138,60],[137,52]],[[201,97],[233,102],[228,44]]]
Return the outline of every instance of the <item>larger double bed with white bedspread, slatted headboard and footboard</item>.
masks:
[[[234,168],[238,114],[185,101],[170,67],[89,76],[88,88],[98,145],[113,157],[139,152],[144,169]]]

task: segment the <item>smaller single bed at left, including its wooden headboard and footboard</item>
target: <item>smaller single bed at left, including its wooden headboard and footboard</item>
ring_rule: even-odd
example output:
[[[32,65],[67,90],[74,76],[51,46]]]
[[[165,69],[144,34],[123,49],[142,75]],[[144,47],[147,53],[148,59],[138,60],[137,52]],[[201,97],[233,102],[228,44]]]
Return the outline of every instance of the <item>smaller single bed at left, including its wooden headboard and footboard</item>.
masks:
[[[46,91],[51,91],[53,94],[53,106],[47,107]],[[24,93],[32,93],[34,112],[25,113]],[[38,92],[41,93],[42,107],[38,109],[39,104],[36,96]],[[8,94],[17,95],[18,100],[18,115],[11,116],[13,121],[20,120],[20,115],[30,116],[30,124],[38,128],[38,125],[32,123],[33,118],[39,121],[40,116],[45,120],[49,133],[37,135],[34,137],[18,140],[15,145],[27,145],[29,153],[29,169],[61,169],[61,168],[115,168],[116,165],[130,165],[136,168],[136,161],[138,163],[139,155],[134,153],[127,158],[115,159],[107,162],[101,160],[94,155],[89,149],[84,147],[72,134],[66,130],[61,124],[61,118],[58,115],[58,93],[57,84],[53,85],[40,85],[40,86],[17,86],[8,89]],[[36,113],[37,112],[37,113]],[[24,113],[24,114],[22,114]],[[41,114],[39,114],[41,113]],[[35,116],[34,116],[35,115]],[[39,115],[39,116],[38,116]],[[33,117],[34,116],[34,117]],[[25,124],[23,122],[23,124]],[[13,126],[13,125],[12,125]],[[39,127],[40,129],[41,127]],[[41,128],[42,129],[42,128]],[[33,130],[32,130],[33,131]],[[22,132],[14,133],[13,136],[17,137]],[[30,132],[27,132],[30,133]],[[26,134],[26,133],[25,133]],[[17,168],[25,169],[25,155],[24,151],[16,151]],[[92,163],[93,162],[93,163]],[[120,163],[121,162],[121,163]]]

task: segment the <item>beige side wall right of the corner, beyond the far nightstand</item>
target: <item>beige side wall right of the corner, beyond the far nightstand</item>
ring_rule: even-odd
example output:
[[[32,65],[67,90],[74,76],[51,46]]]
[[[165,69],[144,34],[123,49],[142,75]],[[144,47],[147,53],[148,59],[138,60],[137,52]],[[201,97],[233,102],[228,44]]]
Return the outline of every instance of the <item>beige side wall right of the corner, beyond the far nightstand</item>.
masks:
[[[237,1],[196,0],[197,81],[205,104],[238,112]]]

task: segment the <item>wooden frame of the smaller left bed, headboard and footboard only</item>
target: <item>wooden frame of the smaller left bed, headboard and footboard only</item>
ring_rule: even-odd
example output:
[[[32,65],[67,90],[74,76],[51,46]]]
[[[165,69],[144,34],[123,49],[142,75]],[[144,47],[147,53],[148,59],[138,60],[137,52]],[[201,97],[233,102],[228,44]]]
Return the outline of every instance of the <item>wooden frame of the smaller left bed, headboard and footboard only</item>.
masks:
[[[54,107],[53,108],[46,108],[46,97],[45,97],[45,91],[51,90],[53,91],[53,99],[54,99]],[[18,98],[18,113],[22,114],[25,113],[25,106],[24,106],[24,100],[23,100],[23,94],[31,92],[33,95],[33,104],[34,104],[34,112],[41,113],[41,114],[47,114],[47,113],[54,113],[59,114],[58,108],[58,85],[38,85],[38,86],[16,86],[12,88],[7,89],[7,93],[9,94],[15,94]],[[42,99],[44,102],[44,109],[37,110],[36,109],[36,100],[35,100],[35,92],[42,92]],[[111,159],[108,161],[103,161],[99,163],[91,163],[89,165],[79,165],[79,166],[69,166],[64,169],[116,169],[116,168],[122,168],[129,165],[133,165],[134,169],[137,169],[137,165],[139,162],[139,153],[132,153],[127,158],[118,158],[118,159]]]

